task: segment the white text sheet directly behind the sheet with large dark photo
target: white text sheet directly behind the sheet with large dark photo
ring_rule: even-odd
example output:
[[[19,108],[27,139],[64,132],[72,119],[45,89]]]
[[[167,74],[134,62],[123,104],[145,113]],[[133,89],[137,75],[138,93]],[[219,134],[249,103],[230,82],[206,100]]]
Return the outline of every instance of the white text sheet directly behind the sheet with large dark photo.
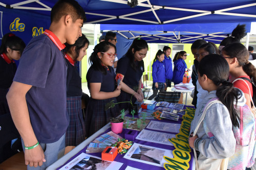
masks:
[[[174,145],[173,143],[169,142],[170,138],[175,137],[175,134],[163,133],[163,132],[155,132],[150,130],[143,129],[136,139],[153,142],[153,143],[160,143],[160,144],[167,144],[167,145]]]

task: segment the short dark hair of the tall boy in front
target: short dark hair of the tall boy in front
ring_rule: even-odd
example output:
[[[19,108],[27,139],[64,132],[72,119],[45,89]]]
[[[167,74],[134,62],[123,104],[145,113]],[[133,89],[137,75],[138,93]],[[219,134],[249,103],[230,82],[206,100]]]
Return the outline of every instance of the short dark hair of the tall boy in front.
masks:
[[[70,15],[72,21],[82,19],[86,22],[86,13],[74,0],[59,0],[51,10],[51,22],[57,22],[62,16]]]

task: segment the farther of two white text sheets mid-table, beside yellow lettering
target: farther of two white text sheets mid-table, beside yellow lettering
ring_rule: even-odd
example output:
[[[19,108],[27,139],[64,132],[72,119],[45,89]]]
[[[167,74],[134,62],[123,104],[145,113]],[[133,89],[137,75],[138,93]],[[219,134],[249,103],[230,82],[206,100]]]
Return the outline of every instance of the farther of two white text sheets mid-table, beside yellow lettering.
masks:
[[[147,129],[158,130],[158,131],[165,131],[165,132],[173,132],[179,133],[180,132],[181,124],[172,124],[166,122],[157,122],[151,120],[151,122],[147,125]]]

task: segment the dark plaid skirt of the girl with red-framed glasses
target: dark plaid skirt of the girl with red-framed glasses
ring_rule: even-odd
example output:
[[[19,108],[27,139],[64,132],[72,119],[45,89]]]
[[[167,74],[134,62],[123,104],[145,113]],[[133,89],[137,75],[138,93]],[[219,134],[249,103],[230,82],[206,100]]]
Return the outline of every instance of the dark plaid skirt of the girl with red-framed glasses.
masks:
[[[105,100],[96,100],[90,98],[86,108],[86,132],[88,137],[100,130],[103,126],[110,122],[111,117],[119,115],[118,105],[113,108],[105,110],[105,105],[114,100],[117,103],[116,98],[110,98]]]

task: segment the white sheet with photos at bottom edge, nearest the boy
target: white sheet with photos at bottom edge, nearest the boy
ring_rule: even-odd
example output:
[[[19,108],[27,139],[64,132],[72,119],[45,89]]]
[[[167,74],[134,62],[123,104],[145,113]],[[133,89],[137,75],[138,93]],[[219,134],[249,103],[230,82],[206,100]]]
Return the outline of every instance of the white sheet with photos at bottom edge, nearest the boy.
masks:
[[[75,170],[75,169],[91,169],[95,167],[97,170],[112,170],[112,169],[119,169],[123,163],[120,162],[110,162],[101,160],[101,158],[88,155],[86,153],[81,153],[77,157],[75,157],[72,161],[65,164],[59,170]]]

